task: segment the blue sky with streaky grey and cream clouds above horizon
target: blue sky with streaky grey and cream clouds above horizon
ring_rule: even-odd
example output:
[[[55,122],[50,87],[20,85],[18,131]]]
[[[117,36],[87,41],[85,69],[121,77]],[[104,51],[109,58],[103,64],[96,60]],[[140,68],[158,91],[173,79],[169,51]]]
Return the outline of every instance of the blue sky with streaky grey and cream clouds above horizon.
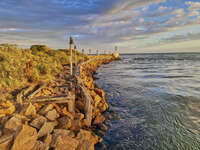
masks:
[[[0,0],[0,43],[200,52],[200,0]]]

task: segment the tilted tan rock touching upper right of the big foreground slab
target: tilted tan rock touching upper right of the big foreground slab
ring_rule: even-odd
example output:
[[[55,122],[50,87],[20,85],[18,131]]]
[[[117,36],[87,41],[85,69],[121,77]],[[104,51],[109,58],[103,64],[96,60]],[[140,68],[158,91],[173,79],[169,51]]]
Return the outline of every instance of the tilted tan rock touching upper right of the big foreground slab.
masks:
[[[54,127],[55,127],[55,124],[53,122],[45,122],[38,132],[38,138],[51,133]]]

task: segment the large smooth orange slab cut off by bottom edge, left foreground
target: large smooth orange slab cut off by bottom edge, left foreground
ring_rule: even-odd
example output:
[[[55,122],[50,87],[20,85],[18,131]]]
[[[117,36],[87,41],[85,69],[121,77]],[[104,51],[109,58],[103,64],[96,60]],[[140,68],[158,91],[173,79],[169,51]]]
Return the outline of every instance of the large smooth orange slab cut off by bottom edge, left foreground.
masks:
[[[13,146],[11,150],[28,150],[32,149],[37,140],[36,129],[23,125],[20,130],[17,131]]]

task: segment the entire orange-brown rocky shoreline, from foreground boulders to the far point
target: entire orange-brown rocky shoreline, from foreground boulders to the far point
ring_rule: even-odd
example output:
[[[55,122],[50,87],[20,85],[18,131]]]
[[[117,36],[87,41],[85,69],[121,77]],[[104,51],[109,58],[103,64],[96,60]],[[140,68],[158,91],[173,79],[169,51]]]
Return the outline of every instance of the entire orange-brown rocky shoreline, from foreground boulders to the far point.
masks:
[[[29,87],[22,90],[23,94],[18,94],[15,102],[1,101],[0,149],[94,150],[95,144],[102,142],[95,133],[103,134],[102,131],[107,130],[103,112],[108,109],[108,103],[105,92],[95,86],[93,74],[99,66],[115,59],[112,55],[93,56],[83,62],[76,74],[82,87],[77,85],[79,82],[76,77],[66,77],[69,69],[66,66],[57,81],[45,84],[44,87],[35,86],[37,90],[34,94],[25,98],[22,96],[28,93],[26,90],[30,91]],[[52,96],[58,93],[60,95],[54,97],[52,102]],[[85,97],[88,93],[92,98],[89,102]],[[66,97],[63,99],[62,95],[72,100],[66,100]],[[44,96],[51,96],[51,99],[46,98],[48,101],[41,102]],[[37,101],[30,101],[29,97],[35,97]]]

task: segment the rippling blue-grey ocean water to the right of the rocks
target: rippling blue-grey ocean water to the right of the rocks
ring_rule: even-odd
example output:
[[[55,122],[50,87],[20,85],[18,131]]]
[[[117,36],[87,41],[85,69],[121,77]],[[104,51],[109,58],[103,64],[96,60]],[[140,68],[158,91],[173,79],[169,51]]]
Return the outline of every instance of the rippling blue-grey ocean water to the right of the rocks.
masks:
[[[200,150],[200,54],[121,57],[96,75],[121,116],[106,122],[106,150]]]

